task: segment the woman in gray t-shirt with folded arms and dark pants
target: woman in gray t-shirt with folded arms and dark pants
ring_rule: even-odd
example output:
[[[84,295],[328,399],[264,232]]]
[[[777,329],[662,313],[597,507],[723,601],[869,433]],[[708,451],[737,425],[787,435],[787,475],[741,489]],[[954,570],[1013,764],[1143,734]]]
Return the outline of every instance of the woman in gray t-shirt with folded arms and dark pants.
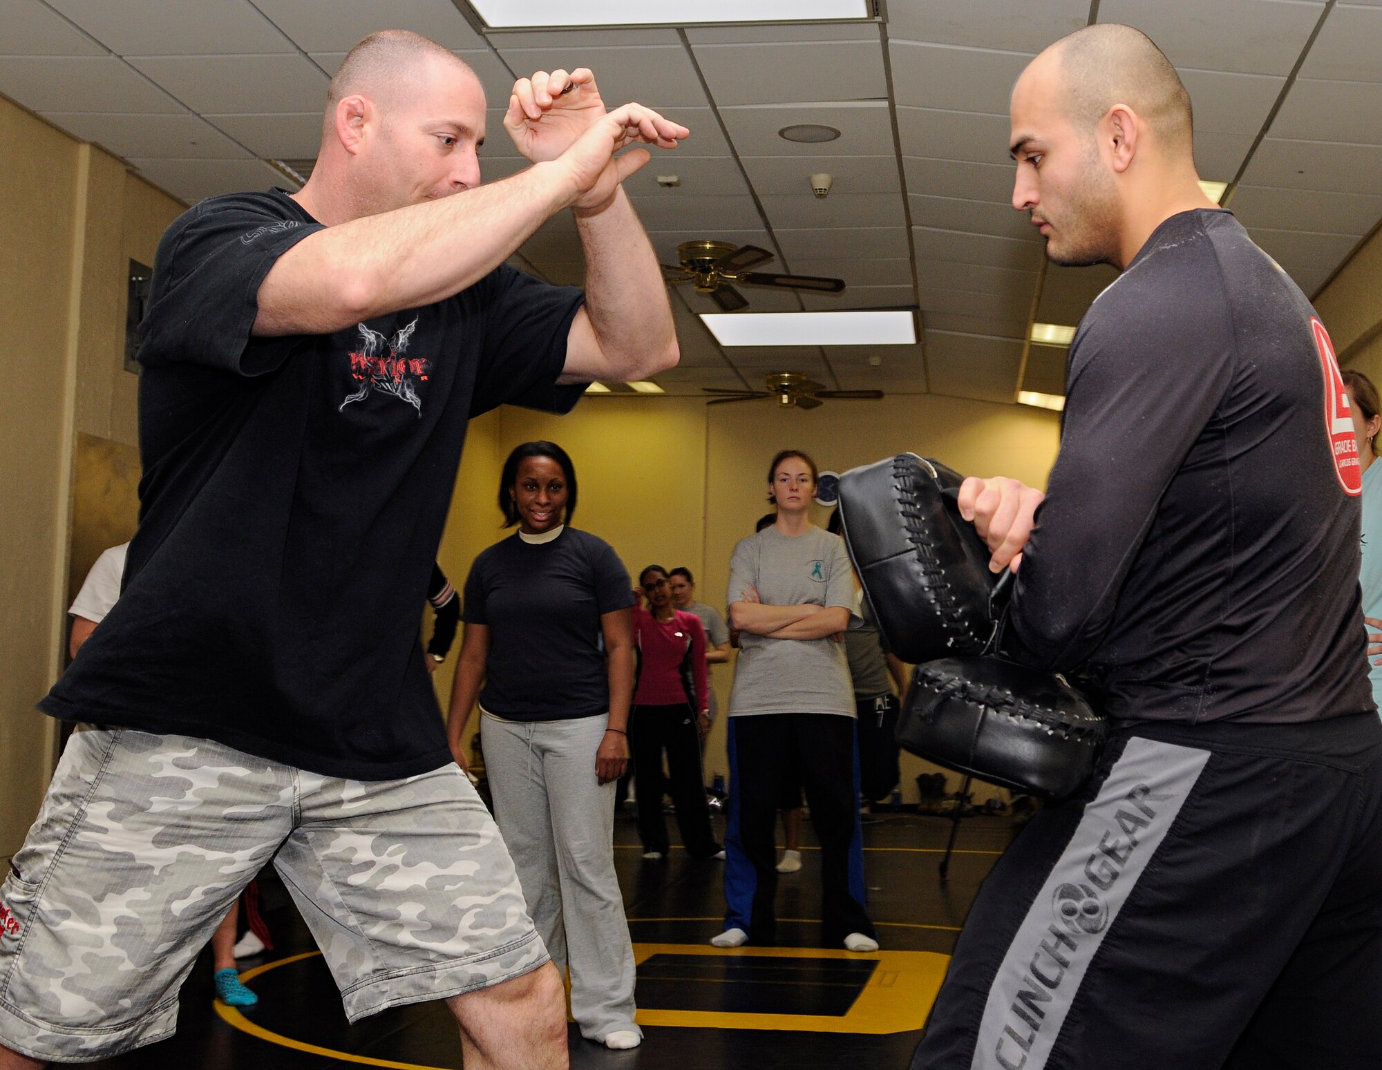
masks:
[[[806,789],[821,841],[821,918],[826,944],[876,951],[864,908],[854,690],[839,635],[854,606],[844,542],[813,527],[817,469],[785,449],[768,469],[777,521],[742,539],[730,560],[726,603],[739,629],[730,695],[730,807],[724,932],[710,943],[773,943],[782,784]]]

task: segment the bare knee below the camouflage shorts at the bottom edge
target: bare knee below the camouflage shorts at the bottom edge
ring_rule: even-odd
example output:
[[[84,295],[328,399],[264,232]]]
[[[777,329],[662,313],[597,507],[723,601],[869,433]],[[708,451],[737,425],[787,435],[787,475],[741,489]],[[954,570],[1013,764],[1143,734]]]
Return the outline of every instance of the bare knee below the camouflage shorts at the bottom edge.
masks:
[[[466,1070],[567,1070],[567,990],[550,962],[446,1001]]]

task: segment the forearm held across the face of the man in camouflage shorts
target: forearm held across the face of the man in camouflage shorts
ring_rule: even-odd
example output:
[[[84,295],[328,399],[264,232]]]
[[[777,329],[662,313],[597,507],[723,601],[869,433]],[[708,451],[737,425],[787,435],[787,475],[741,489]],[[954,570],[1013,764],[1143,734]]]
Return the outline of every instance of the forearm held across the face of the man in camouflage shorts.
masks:
[[[326,335],[451,297],[575,196],[560,165],[539,163],[492,185],[328,227],[274,264],[253,333]]]

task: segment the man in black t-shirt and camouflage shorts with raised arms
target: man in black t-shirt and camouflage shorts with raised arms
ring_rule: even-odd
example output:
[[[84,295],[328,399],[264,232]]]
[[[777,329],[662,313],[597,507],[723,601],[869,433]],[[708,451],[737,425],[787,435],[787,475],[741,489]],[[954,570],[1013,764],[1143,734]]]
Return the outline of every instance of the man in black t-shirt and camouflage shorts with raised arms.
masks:
[[[417,606],[471,416],[676,362],[621,187],[648,153],[612,153],[687,130],[538,72],[503,120],[535,166],[480,185],[485,118],[455,54],[372,35],[300,192],[211,198],[164,234],[124,588],[41,702],[115,727],[69,744],[0,888],[0,1066],[171,1033],[271,857],[352,1020],[448,998],[467,1067],[567,1064],[561,979],[451,760]],[[504,265],[565,207],[583,296]]]

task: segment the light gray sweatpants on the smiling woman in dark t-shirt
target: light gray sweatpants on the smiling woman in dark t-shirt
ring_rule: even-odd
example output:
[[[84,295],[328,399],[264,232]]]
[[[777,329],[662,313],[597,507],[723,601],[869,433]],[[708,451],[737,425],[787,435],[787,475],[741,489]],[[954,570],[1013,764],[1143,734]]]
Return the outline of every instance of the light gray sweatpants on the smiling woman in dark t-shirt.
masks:
[[[614,789],[596,782],[607,719],[481,719],[485,770],[528,914],[557,969],[571,970],[571,1015],[603,1041],[633,1023],[633,943],[614,871]]]

